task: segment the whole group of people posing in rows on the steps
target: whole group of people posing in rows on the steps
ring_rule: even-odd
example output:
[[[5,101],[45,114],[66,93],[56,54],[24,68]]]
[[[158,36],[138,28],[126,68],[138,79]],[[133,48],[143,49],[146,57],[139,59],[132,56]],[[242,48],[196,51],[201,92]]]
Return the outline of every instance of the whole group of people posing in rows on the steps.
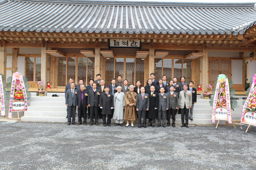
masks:
[[[99,119],[103,120],[103,126],[111,126],[111,119],[114,119],[115,126],[123,126],[126,120],[126,127],[130,126],[130,123],[134,127],[135,121],[138,120],[138,128],[175,127],[176,113],[181,114],[182,127],[189,127],[189,120],[193,120],[196,88],[193,88],[194,82],[185,82],[184,76],[180,78],[180,83],[177,83],[176,77],[167,82],[166,75],[155,80],[155,73],[151,73],[145,87],[141,87],[140,81],[137,81],[135,86],[128,86],[128,80],[122,80],[122,76],[118,76],[117,81],[113,78],[111,84],[106,86],[100,74],[96,77],[97,80],[91,79],[88,86],[83,84],[82,79],[77,86],[73,78],[69,79],[65,88],[67,125],[76,125],[76,107],[78,125],[82,124],[83,118],[84,125],[87,125],[87,119],[90,119],[90,126],[99,126]]]

